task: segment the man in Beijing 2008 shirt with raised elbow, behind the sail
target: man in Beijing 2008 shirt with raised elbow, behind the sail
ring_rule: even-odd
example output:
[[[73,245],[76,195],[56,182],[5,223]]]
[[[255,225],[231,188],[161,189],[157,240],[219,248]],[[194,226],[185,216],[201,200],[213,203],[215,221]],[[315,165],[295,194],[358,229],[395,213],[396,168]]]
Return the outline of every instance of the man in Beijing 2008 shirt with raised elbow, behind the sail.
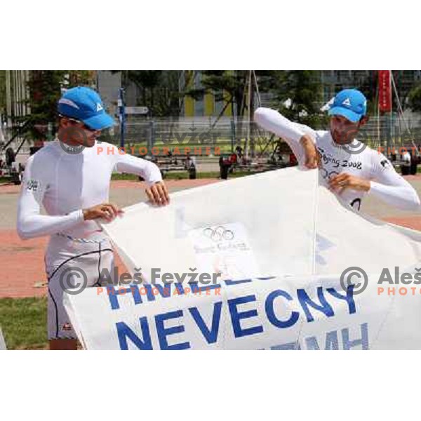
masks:
[[[330,130],[314,131],[293,123],[274,109],[258,108],[254,120],[288,142],[301,166],[317,168],[330,189],[359,210],[365,194],[407,210],[419,210],[415,189],[396,173],[380,152],[356,140],[367,118],[367,100],[356,89],[335,96],[329,109]]]

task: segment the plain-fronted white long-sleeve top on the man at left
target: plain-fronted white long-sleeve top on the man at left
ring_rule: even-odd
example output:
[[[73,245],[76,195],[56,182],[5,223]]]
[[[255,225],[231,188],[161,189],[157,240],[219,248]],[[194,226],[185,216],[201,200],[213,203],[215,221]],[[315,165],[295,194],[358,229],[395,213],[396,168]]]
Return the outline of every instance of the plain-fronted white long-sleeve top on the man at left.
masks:
[[[18,234],[22,239],[62,233],[88,238],[98,232],[83,209],[109,200],[113,171],[141,175],[148,185],[162,180],[152,162],[123,154],[107,142],[95,142],[78,154],[65,152],[59,140],[29,157],[18,202]],[[41,205],[47,215],[41,215]]]

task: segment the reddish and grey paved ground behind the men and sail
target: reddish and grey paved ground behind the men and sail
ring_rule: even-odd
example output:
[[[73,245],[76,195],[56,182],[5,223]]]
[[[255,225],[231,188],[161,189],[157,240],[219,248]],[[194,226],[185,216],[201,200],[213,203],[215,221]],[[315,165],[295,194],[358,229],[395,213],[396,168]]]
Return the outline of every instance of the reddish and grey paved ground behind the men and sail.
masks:
[[[421,196],[421,176],[408,176],[407,180]],[[215,179],[168,180],[171,192],[220,182]],[[110,200],[119,206],[145,201],[145,185],[133,181],[113,181]],[[16,203],[20,187],[0,185],[0,298],[42,296],[46,292],[44,274],[44,248],[48,239],[22,241],[15,232]],[[421,231],[421,215],[396,210],[384,203],[367,197],[363,211],[375,218],[394,222]],[[117,265],[123,267],[117,259]]]

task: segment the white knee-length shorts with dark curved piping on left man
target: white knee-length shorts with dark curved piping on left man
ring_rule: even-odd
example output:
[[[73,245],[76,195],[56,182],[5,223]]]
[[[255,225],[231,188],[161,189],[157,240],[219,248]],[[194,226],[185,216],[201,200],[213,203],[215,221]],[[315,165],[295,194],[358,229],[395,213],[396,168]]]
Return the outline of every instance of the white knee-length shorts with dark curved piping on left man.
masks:
[[[102,286],[110,279],[114,282],[114,253],[109,239],[89,241],[55,234],[48,243],[45,263],[49,340],[76,338],[63,306],[66,289]]]

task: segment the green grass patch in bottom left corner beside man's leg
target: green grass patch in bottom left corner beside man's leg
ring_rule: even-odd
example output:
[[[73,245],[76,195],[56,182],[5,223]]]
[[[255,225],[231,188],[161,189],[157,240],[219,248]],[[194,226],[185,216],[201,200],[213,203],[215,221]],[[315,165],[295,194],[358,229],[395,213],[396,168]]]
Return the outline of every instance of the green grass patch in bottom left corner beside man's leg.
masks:
[[[46,298],[1,298],[0,327],[7,349],[46,349]]]

